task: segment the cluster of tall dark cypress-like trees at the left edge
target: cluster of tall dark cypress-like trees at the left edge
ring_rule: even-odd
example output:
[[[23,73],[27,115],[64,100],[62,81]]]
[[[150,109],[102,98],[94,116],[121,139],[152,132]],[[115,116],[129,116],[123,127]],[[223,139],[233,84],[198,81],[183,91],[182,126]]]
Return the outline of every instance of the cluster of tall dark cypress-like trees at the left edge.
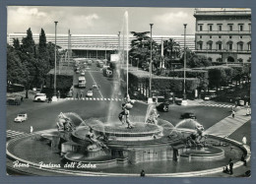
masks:
[[[22,39],[22,43],[18,38],[14,38],[13,43],[13,45],[7,45],[7,86],[24,85],[28,97],[29,89],[41,88],[46,74],[54,67],[55,44],[47,43],[42,29],[38,44],[34,43],[31,29],[27,31],[27,36]]]

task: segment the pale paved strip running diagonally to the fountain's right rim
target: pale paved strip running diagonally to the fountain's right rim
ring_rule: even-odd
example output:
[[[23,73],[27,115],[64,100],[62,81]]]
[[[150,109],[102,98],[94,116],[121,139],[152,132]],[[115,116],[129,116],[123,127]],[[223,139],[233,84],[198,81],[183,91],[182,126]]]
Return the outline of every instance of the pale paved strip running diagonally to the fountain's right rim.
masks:
[[[246,115],[246,108],[241,108],[236,111],[234,118],[232,118],[230,114],[220,122],[207,129],[205,133],[220,136],[223,138],[228,137],[250,119],[251,116]]]

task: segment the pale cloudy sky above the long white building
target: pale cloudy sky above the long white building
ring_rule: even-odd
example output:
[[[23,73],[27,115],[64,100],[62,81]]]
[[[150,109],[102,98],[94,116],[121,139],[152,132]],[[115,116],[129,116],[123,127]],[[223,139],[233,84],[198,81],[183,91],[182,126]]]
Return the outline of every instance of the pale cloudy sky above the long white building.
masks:
[[[188,24],[187,34],[195,32],[194,9],[192,8],[127,8],[127,7],[39,7],[9,6],[8,33],[54,33],[54,21],[58,21],[57,32],[72,34],[117,34],[121,31],[125,11],[128,11],[129,31],[150,31],[153,34],[180,35],[183,24]]]

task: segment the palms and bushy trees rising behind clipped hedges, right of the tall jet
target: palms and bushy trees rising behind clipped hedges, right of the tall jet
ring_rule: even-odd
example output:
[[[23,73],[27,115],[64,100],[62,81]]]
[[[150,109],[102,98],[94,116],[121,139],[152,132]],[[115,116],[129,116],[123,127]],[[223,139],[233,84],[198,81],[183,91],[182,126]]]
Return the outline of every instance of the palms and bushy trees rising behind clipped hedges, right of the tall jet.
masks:
[[[130,60],[134,66],[148,70],[151,58],[151,37],[148,36],[149,31],[131,31],[131,33],[135,39],[131,41]],[[189,68],[212,66],[211,60],[205,56],[196,55],[188,48],[186,48],[186,58],[186,64]],[[163,63],[167,69],[174,68],[174,64],[177,63],[183,66],[184,49],[182,50],[180,45],[172,38],[162,41],[162,45],[152,40],[152,60],[155,72],[162,67]]]

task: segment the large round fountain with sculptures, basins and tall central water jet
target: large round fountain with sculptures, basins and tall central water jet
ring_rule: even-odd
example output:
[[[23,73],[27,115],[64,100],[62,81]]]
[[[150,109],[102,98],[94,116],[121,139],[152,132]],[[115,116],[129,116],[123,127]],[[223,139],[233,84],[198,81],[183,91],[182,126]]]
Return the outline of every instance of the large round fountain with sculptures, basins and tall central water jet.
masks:
[[[125,12],[124,20],[122,30],[127,33],[128,53],[128,12]],[[123,38],[123,45],[124,40]],[[118,83],[114,84],[112,98],[116,95],[115,92],[121,91],[120,71],[125,61],[124,49],[119,51],[119,54],[123,59],[116,65]],[[128,67],[128,55],[126,60]],[[128,68],[126,72],[128,75]],[[41,169],[41,166],[36,164],[36,156],[17,155],[15,152],[16,147],[20,145],[33,147],[35,153],[45,154],[43,161],[60,165],[60,169],[51,168],[48,171],[63,174],[125,173],[134,176],[142,167],[147,167],[147,172],[153,176],[171,176],[173,173],[176,173],[173,176],[178,176],[177,172],[181,172],[182,176],[182,173],[191,171],[194,171],[195,176],[202,175],[206,169],[216,167],[221,169],[215,170],[215,173],[222,171],[229,156],[234,154],[229,149],[214,146],[221,138],[206,136],[204,127],[192,119],[182,120],[173,126],[170,122],[160,119],[153,104],[148,105],[143,115],[133,115],[133,105],[137,102],[130,99],[128,77],[126,80],[126,94],[122,105],[111,101],[106,117],[83,120],[76,113],[61,112],[56,120],[57,129],[37,133],[39,139],[33,142],[28,142],[30,136],[12,140],[7,145],[7,154],[16,159],[20,156],[24,162],[33,162],[33,168]],[[237,149],[236,156],[248,152],[232,141],[228,141],[228,144]],[[204,161],[211,164],[204,164]]]

